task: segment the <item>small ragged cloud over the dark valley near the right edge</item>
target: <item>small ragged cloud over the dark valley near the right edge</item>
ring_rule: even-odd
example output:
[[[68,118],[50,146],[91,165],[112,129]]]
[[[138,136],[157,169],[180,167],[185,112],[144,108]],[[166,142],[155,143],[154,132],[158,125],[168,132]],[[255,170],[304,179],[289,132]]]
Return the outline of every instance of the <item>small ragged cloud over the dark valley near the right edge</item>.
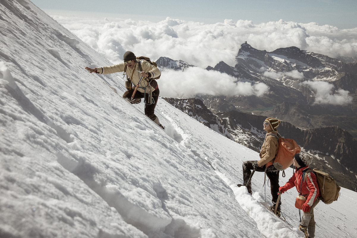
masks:
[[[339,88],[337,91],[334,90],[335,86],[331,83],[323,81],[304,81],[301,83],[304,86],[310,87],[313,91],[316,92],[315,104],[322,105],[337,105],[342,106],[350,104],[353,101],[353,98],[348,95],[348,91]],[[335,92],[334,92],[335,91]]]

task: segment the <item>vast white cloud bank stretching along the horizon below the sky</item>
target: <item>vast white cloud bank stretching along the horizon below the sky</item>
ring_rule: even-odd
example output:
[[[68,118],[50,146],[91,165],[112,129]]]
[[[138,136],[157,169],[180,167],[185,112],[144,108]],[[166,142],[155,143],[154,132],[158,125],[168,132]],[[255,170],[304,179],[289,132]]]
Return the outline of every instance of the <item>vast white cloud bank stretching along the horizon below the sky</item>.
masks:
[[[338,29],[315,22],[266,22],[225,20],[216,24],[170,19],[160,22],[105,17],[50,14],[93,49],[113,63],[122,62],[124,52],[183,60],[206,68],[220,61],[235,65],[235,56],[245,41],[258,50],[273,51],[296,46],[328,55],[357,56],[357,28]],[[105,14],[103,14],[105,16]]]

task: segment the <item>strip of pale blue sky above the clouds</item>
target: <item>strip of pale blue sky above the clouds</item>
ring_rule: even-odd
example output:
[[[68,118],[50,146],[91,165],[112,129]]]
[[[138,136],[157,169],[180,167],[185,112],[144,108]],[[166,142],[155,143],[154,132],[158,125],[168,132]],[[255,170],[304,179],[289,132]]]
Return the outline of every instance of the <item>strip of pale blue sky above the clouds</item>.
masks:
[[[172,19],[200,21],[206,24],[225,19],[261,22],[317,22],[340,29],[357,27],[356,0],[220,0],[220,1],[118,1],[118,0],[32,0],[41,9],[97,11],[116,13],[119,17],[161,21]]]

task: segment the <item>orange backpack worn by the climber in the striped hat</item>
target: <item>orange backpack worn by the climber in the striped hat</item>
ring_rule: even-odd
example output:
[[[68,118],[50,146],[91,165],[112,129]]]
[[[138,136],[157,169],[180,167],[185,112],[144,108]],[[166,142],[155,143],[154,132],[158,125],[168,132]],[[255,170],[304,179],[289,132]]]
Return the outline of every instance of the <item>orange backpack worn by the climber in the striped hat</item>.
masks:
[[[300,152],[300,146],[293,139],[283,138],[279,134],[277,137],[271,133],[269,135],[275,136],[279,141],[278,152],[273,161],[273,165],[277,170],[284,170],[293,164],[294,155]]]

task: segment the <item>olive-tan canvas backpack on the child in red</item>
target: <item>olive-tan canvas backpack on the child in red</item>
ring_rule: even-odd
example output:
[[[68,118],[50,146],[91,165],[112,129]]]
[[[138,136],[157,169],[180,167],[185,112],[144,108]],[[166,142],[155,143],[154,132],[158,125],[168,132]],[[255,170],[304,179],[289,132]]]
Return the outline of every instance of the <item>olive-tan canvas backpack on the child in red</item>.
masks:
[[[321,201],[325,204],[330,204],[333,201],[337,201],[341,187],[338,186],[335,179],[333,179],[328,173],[314,168],[313,170],[308,169],[305,172],[305,181],[307,179],[307,172],[309,171],[315,173],[316,175],[318,189],[320,189],[321,193]]]

